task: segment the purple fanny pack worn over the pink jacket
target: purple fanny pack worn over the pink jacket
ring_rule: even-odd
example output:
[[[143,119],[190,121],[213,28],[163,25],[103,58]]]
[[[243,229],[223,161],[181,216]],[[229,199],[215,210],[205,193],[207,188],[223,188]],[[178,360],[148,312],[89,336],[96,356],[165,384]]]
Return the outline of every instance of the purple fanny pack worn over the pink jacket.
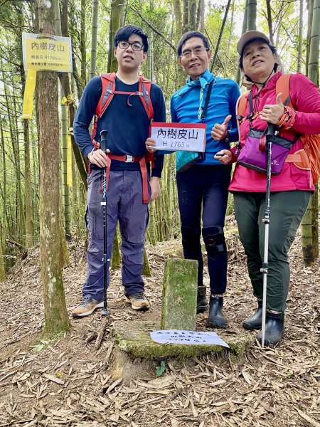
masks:
[[[250,129],[242,147],[238,164],[257,172],[267,172],[267,152],[265,144],[266,131]],[[278,175],[282,172],[284,162],[294,141],[272,135],[271,173]]]

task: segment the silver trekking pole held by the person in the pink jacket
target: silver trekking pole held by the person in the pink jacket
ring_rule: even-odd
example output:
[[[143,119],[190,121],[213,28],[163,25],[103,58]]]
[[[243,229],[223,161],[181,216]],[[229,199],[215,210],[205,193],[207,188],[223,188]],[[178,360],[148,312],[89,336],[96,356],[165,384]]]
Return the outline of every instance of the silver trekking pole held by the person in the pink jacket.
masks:
[[[261,325],[261,347],[265,347],[265,315],[267,307],[267,274],[268,274],[268,255],[269,255],[269,225],[270,225],[270,184],[271,184],[271,154],[272,154],[272,138],[274,136],[274,125],[268,123],[266,135],[266,151],[267,151],[267,188],[265,191],[265,218],[262,222],[265,223],[265,253],[263,257],[262,268],[263,273],[263,293],[262,293],[262,325]]]

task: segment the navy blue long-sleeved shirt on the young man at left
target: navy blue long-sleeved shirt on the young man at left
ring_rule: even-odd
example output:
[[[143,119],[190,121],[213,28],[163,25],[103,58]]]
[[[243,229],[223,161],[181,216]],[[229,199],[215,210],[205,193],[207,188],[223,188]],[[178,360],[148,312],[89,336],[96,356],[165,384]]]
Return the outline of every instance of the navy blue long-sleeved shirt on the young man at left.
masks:
[[[117,91],[137,92],[139,83],[127,85],[116,77]],[[80,147],[82,153],[87,156],[92,151],[92,142],[89,134],[89,126],[97,103],[100,100],[102,93],[101,78],[92,78],[87,83],[85,90],[82,93],[80,104],[75,115],[73,123],[73,134],[75,141]],[[164,94],[161,88],[151,84],[151,102],[154,107],[154,121],[166,121],[166,107],[164,102]],[[131,104],[131,105],[130,105]],[[112,154],[122,155],[130,154],[132,156],[143,156],[146,154],[145,142],[149,137],[149,120],[146,115],[146,110],[142,105],[142,100],[139,95],[123,95],[114,94],[110,105],[103,113],[97,124],[97,132],[95,140],[100,142],[100,132],[107,130],[107,148]],[[152,169],[153,176],[161,176],[163,166],[163,155],[157,154]],[[95,165],[92,165],[95,167]],[[112,170],[139,170],[139,163],[125,163],[112,160]]]

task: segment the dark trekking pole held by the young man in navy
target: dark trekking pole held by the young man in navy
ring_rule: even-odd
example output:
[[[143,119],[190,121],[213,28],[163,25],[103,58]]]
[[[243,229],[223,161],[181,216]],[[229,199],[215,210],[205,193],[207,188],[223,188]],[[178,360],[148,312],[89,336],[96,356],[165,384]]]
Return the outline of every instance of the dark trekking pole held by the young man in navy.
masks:
[[[107,151],[107,130],[100,132],[100,149],[105,153]],[[107,308],[107,272],[108,263],[110,259],[107,257],[107,181],[106,181],[107,167],[103,168],[102,178],[102,201],[101,206],[103,210],[103,309],[101,311],[102,317],[110,315]]]

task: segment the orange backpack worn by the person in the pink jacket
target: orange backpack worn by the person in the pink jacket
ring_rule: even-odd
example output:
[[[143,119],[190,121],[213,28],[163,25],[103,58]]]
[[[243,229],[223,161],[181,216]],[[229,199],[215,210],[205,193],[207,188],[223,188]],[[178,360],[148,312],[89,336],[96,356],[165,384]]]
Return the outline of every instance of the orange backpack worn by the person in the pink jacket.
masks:
[[[276,93],[282,93],[281,100],[284,105],[289,105],[293,107],[290,100],[289,88],[290,88],[290,76],[291,74],[283,74],[279,77],[276,83]],[[237,121],[238,121],[238,130],[239,130],[239,140],[240,140],[240,123],[245,118],[245,110],[247,108],[247,94],[250,91],[247,91],[240,96],[237,107]],[[297,138],[297,132],[292,130],[293,135]],[[320,177],[320,134],[319,135],[309,135],[301,134],[299,139],[302,142],[303,148],[299,149],[294,154],[288,154],[286,162],[292,162],[299,169],[305,169],[311,171],[311,177],[314,184],[319,181]]]

